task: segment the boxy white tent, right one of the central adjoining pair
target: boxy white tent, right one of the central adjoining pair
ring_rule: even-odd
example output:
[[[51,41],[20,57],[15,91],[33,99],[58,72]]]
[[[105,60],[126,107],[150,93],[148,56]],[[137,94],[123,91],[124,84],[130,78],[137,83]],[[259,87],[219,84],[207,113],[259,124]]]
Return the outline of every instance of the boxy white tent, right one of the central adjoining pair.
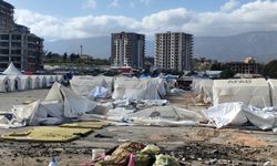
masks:
[[[116,77],[112,98],[161,100],[161,96],[153,79]]]

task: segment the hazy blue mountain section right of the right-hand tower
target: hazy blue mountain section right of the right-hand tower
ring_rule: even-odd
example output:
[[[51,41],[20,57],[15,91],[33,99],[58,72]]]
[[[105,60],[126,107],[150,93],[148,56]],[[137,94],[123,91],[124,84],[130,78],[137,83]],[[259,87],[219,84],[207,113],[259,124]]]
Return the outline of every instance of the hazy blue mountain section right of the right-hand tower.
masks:
[[[277,59],[277,32],[198,37],[194,40],[194,54],[219,61],[240,61],[247,56],[269,61]]]

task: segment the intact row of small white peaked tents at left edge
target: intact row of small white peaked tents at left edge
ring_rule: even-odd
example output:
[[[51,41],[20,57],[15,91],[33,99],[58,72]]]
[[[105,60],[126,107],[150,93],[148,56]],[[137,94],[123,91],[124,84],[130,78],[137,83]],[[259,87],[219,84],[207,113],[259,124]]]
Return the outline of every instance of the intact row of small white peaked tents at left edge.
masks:
[[[45,89],[63,80],[62,75],[23,75],[12,63],[2,74],[0,75],[0,92]]]

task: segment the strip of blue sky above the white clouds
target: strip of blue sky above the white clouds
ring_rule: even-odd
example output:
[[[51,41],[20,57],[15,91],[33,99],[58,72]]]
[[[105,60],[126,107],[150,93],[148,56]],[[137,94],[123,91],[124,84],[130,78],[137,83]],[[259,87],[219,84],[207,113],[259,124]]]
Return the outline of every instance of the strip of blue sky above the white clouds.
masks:
[[[95,8],[84,8],[88,0],[7,0],[18,9],[70,18],[85,14],[129,15],[136,19],[166,9],[186,8],[194,11],[217,11],[228,0],[117,0],[119,7],[111,7],[114,0],[95,0]],[[244,0],[243,3],[250,0]]]

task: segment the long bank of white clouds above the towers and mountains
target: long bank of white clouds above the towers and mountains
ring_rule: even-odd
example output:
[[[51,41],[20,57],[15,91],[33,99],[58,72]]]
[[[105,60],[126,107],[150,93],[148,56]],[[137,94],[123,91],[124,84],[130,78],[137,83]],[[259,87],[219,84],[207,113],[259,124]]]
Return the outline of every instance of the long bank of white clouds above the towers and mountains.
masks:
[[[110,35],[112,32],[133,31],[153,35],[164,31],[184,31],[195,35],[229,35],[248,31],[277,30],[277,1],[257,0],[236,10],[195,12],[185,8],[163,10],[142,20],[124,15],[84,15],[60,19],[16,9],[18,23],[45,40]]]

